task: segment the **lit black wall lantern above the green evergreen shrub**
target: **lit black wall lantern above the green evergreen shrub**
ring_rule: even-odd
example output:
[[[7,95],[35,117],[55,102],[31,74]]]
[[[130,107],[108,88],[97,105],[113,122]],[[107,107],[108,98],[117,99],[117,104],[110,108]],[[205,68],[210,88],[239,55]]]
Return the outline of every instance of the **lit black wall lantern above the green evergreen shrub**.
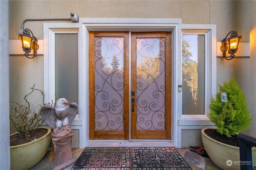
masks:
[[[230,34],[230,37],[228,35]],[[242,35],[238,36],[237,31],[230,31],[226,36],[226,38],[222,39],[221,43],[222,46],[220,47],[220,50],[223,52],[222,57],[226,60],[231,60],[235,57],[235,53],[238,49],[239,41],[242,39]],[[230,54],[230,57],[226,57],[226,51],[228,51],[228,54]]]

